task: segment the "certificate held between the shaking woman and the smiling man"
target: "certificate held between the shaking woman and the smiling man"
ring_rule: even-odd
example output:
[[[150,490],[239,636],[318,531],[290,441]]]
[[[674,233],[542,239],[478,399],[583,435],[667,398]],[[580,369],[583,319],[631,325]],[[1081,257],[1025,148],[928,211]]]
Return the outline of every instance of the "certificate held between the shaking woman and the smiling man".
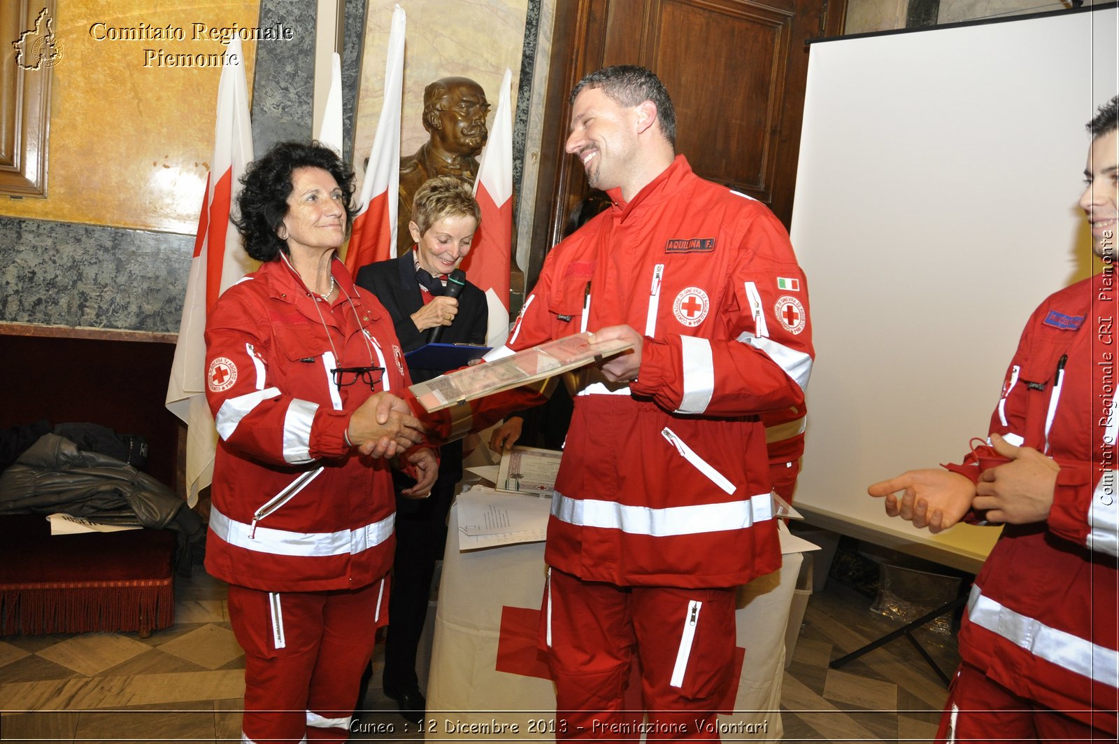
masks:
[[[633,344],[614,340],[594,343],[590,333],[556,338],[501,359],[442,374],[410,388],[429,413],[467,400],[492,396],[612,356]]]

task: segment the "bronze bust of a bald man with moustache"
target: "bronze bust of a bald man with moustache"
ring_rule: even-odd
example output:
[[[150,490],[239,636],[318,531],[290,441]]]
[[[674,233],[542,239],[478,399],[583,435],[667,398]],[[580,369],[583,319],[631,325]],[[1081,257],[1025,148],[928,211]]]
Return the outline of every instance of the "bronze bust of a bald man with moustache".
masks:
[[[469,77],[443,77],[423,92],[423,127],[429,139],[414,155],[401,158],[399,205],[396,217],[396,251],[412,248],[408,222],[415,190],[435,176],[458,176],[473,183],[477,156],[489,131],[486,114],[490,105],[481,85]]]

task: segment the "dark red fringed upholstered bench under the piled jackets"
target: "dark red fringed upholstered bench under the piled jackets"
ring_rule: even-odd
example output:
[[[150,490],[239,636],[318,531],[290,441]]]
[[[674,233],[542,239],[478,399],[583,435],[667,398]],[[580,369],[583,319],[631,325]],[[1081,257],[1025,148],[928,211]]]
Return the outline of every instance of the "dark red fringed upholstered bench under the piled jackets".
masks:
[[[170,530],[50,534],[0,517],[0,635],[137,631],[175,623]]]

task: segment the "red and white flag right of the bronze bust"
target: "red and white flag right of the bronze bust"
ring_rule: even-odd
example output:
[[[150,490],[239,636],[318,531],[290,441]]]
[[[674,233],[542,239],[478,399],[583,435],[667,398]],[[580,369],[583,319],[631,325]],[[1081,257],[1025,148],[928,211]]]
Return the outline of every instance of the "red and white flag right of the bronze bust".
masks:
[[[500,346],[509,336],[509,266],[513,255],[513,71],[506,68],[489,140],[478,164],[474,198],[482,222],[462,270],[486,292],[489,305],[487,346]]]

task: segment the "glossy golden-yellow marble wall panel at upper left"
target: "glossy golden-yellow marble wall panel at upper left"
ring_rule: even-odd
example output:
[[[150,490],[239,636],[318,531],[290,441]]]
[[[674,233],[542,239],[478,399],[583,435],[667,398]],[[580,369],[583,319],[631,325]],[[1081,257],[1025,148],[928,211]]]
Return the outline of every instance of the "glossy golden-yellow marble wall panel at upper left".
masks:
[[[220,56],[209,29],[254,27],[258,6],[57,0],[47,198],[0,198],[0,215],[194,234],[220,67],[172,67],[167,55]],[[168,27],[182,40],[120,38]],[[250,90],[255,47],[244,43]]]

